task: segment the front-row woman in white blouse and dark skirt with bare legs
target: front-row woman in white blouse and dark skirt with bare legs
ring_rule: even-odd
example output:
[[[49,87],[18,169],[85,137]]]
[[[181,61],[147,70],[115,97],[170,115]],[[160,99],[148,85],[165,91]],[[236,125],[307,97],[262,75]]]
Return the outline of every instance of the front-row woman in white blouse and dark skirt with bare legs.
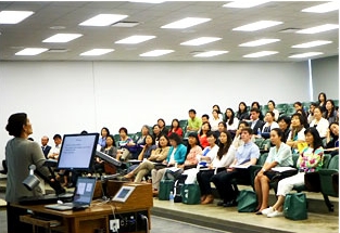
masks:
[[[282,130],[277,128],[272,129],[270,142],[274,146],[270,147],[268,157],[254,180],[254,189],[259,203],[256,215],[262,215],[262,210],[268,207],[269,182],[275,174],[270,172],[272,168],[290,167],[293,165],[290,146],[282,142]]]

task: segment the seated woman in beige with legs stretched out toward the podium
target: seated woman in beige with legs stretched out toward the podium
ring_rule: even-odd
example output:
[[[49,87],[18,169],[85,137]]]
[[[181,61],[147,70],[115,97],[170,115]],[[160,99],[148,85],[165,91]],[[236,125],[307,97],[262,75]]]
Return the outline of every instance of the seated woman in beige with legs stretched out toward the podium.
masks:
[[[161,135],[159,147],[151,152],[150,157],[142,161],[135,170],[130,171],[124,178],[133,179],[134,182],[140,182],[144,176],[147,176],[152,169],[155,168],[154,163],[163,163],[166,158],[169,150],[169,142],[167,135]]]

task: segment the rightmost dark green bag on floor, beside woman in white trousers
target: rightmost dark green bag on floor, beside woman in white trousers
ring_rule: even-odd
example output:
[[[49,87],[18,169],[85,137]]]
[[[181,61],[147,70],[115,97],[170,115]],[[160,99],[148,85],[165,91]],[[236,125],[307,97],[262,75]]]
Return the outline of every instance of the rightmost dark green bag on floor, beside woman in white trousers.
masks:
[[[307,203],[304,193],[289,193],[286,195],[284,213],[287,219],[307,219]]]

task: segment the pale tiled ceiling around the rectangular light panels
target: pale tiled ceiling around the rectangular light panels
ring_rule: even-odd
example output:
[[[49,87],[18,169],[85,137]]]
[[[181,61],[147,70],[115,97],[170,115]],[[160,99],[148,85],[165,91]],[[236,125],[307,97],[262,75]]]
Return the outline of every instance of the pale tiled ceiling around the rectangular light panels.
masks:
[[[303,61],[289,59],[291,54],[323,52],[315,57],[339,54],[339,30],[304,35],[280,33],[287,28],[304,29],[322,24],[339,24],[339,12],[324,14],[301,12],[320,1],[267,2],[251,9],[223,8],[225,1],[169,1],[159,4],[128,1],[0,1],[0,11],[34,11],[23,22],[0,24],[0,61]],[[127,22],[138,22],[135,27],[85,27],[78,24],[100,13],[126,14]],[[187,29],[164,29],[161,26],[184,17],[209,17],[210,22]],[[266,29],[245,33],[232,28],[261,20],[280,21],[284,24]],[[63,26],[64,29],[51,29]],[[67,43],[43,43],[48,37],[60,33],[77,33],[84,36]],[[139,44],[117,44],[117,40],[133,35],[153,35],[155,39]],[[222,40],[203,46],[180,46],[181,42],[198,37],[221,37]],[[279,42],[262,47],[245,48],[240,43],[262,38],[280,39]],[[330,40],[332,43],[310,49],[294,49],[294,44],[312,40]],[[17,56],[24,48],[48,48],[50,51],[35,56]],[[101,56],[79,56],[95,48],[114,49]],[[158,56],[142,57],[139,54],[154,50],[169,49],[175,52]],[[193,54],[210,50],[226,50],[228,53],[213,57],[194,57]],[[277,54],[260,59],[243,55],[263,50],[278,51]]]

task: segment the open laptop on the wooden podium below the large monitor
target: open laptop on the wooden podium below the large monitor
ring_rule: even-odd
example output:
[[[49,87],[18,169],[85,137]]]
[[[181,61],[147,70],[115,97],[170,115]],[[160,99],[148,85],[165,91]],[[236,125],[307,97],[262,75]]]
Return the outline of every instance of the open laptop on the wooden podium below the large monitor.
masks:
[[[52,204],[46,205],[45,207],[60,211],[88,208],[93,197],[95,187],[96,178],[79,177],[74,190],[72,203]]]

